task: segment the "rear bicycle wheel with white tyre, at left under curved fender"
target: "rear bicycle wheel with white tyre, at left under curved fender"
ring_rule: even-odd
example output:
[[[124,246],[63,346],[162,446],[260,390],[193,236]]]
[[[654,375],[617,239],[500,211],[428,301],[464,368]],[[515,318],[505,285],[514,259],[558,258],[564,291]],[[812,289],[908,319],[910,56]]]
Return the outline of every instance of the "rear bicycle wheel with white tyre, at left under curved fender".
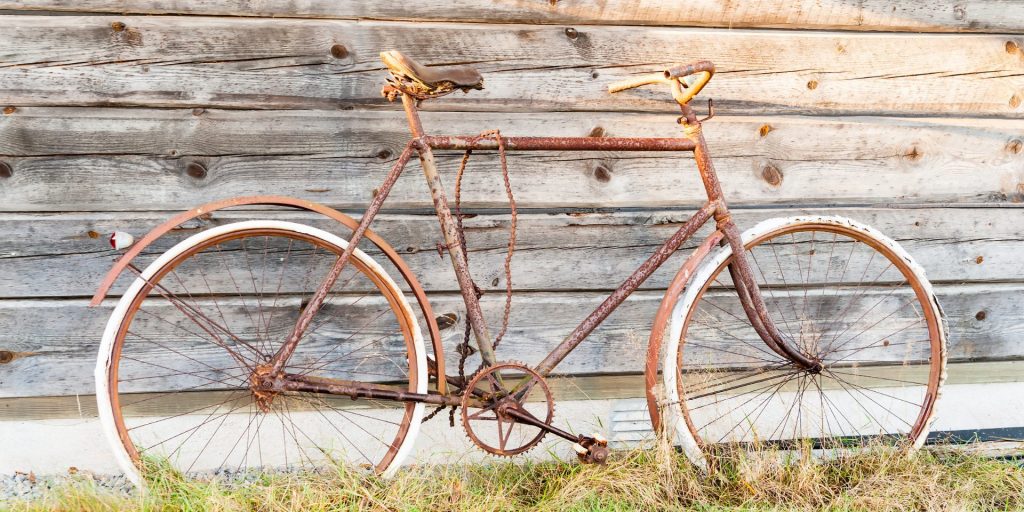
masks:
[[[254,384],[346,246],[302,224],[238,222],[182,241],[137,275],[108,323],[96,367],[100,419],[131,478],[138,481],[146,459],[184,473],[397,468],[422,403],[267,393]],[[285,372],[427,391],[413,310],[362,251]]]

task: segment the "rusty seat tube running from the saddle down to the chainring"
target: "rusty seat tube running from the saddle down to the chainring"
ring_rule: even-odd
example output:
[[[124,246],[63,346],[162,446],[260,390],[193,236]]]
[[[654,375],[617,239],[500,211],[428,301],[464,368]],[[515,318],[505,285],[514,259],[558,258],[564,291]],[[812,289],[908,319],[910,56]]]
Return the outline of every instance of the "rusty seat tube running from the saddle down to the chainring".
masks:
[[[444,194],[444,186],[441,183],[440,174],[437,172],[437,165],[434,162],[434,154],[430,145],[423,137],[423,129],[420,125],[419,114],[416,111],[416,99],[407,94],[402,94],[402,104],[409,118],[410,129],[417,137],[416,148],[420,156],[420,166],[423,168],[423,175],[427,179],[427,186],[430,187],[430,199],[434,203],[434,211],[437,212],[437,220],[441,224],[441,233],[444,236],[444,245],[447,248],[449,256],[452,258],[452,267],[455,269],[456,280],[459,282],[459,290],[466,303],[466,317],[473,328],[473,335],[476,345],[480,350],[480,357],[485,365],[495,362],[495,346],[487,332],[486,322],[483,319],[483,311],[480,308],[480,299],[476,295],[476,287],[469,274],[469,262],[466,254],[462,250],[462,232],[459,231],[455,219],[452,217],[452,210],[449,208],[447,196]]]

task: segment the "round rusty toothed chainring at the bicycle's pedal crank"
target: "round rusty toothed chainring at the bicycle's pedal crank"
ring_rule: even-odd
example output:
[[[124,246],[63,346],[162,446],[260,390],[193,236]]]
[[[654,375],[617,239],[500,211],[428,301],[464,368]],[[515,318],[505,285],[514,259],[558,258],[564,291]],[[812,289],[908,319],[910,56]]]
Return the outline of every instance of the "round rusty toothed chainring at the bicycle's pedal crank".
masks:
[[[470,440],[500,457],[522,454],[548,433],[510,416],[510,411],[548,425],[555,417],[555,402],[544,377],[516,361],[498,362],[477,372],[462,394],[461,409],[462,426]]]

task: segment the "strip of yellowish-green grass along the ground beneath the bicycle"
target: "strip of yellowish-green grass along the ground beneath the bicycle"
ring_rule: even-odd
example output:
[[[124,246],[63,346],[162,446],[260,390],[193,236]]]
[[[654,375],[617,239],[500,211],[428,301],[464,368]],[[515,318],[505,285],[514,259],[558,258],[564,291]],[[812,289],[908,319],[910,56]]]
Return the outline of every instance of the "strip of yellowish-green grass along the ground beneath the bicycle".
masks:
[[[345,468],[260,475],[253,482],[147,471],[147,493],[124,497],[75,480],[14,511],[343,510],[1022,510],[1024,469],[973,455],[905,456],[873,449],[839,459],[732,453],[709,475],[666,449],[612,454],[607,466],[494,462],[414,467],[383,480]]]

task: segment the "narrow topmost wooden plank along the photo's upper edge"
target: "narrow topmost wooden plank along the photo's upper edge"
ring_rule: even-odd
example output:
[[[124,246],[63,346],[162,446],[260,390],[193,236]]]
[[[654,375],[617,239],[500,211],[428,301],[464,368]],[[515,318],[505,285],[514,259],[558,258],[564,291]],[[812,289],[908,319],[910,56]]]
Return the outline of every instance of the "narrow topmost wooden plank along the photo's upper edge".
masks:
[[[1018,32],[1024,10],[1012,0],[23,0],[0,9],[476,23],[766,27],[912,32]]]

